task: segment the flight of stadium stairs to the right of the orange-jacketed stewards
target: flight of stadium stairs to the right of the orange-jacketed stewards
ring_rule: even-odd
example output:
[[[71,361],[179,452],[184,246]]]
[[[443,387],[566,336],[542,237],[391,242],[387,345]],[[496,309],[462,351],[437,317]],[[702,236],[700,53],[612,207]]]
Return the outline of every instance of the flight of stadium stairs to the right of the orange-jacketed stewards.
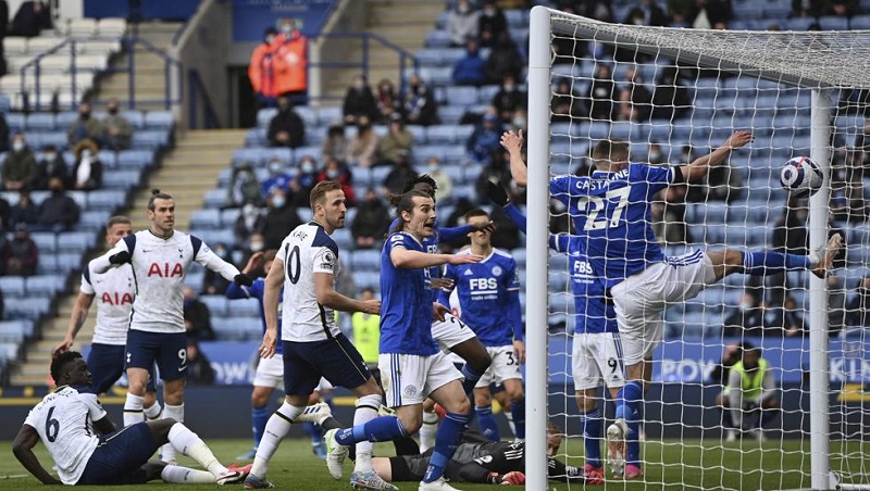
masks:
[[[414,53],[423,48],[425,34],[432,29],[433,20],[442,12],[444,12],[443,2],[371,0],[368,2],[365,30]],[[377,42],[372,42],[369,48],[369,84],[374,87],[378,80],[388,78],[398,85],[399,58],[396,51]],[[362,41],[357,41],[349,50],[347,60],[362,59]],[[324,93],[330,100],[340,101],[347,92],[351,78],[359,74],[359,68],[345,68],[339,75],[327,80]]]

